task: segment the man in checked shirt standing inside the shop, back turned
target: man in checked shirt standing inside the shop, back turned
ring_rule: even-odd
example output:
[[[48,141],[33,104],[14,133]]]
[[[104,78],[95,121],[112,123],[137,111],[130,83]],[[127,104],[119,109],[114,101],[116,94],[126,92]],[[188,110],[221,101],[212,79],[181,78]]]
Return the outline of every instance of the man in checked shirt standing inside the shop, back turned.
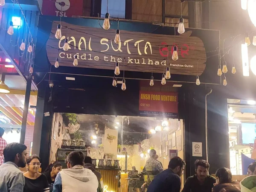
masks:
[[[146,183],[141,186],[142,189],[145,189],[146,185],[149,185],[149,183],[154,179],[154,177],[163,171],[163,165],[160,161],[157,160],[158,155],[157,151],[154,149],[151,149],[149,151],[150,158],[146,161],[145,167],[143,169],[143,172],[146,171],[148,173],[148,180]]]

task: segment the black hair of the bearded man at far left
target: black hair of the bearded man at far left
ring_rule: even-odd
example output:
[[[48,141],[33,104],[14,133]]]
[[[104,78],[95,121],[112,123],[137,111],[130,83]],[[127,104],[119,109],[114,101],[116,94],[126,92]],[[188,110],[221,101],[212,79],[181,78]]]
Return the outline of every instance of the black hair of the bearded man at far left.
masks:
[[[26,145],[21,143],[10,143],[3,150],[3,157],[5,162],[11,161],[14,163],[16,154],[22,154],[23,151],[26,150]]]

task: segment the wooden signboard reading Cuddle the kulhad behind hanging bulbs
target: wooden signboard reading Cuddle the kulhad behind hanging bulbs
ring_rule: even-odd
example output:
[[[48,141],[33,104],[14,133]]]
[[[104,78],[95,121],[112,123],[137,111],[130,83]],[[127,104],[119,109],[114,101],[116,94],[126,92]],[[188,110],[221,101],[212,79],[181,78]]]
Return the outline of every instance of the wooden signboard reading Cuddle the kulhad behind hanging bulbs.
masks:
[[[55,64],[58,55],[60,66],[73,66],[77,47],[78,66],[76,67],[114,70],[117,53],[119,53],[120,70],[123,69],[124,63],[125,70],[151,72],[153,67],[154,73],[163,73],[163,70],[169,66],[171,74],[196,76],[198,67],[200,76],[206,67],[204,43],[200,38],[191,36],[192,31],[189,30],[181,35],[176,32],[179,58],[173,61],[174,35],[120,30],[121,42],[116,45],[114,43],[116,30],[114,29],[104,30],[62,22],[63,36],[58,40],[55,38],[57,23],[58,21],[53,22],[52,32],[47,41],[47,55],[52,65]],[[63,50],[66,36],[70,44],[68,51]],[[167,48],[166,45],[169,47]]]

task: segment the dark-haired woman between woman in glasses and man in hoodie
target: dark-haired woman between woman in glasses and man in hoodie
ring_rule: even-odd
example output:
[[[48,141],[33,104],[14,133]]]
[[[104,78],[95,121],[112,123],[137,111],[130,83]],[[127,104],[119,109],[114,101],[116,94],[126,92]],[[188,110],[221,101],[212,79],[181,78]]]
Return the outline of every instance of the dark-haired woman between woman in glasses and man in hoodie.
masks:
[[[49,166],[45,169],[44,175],[47,177],[48,183],[49,183],[49,188],[50,192],[52,192],[52,186],[54,184],[55,178],[62,169],[62,165],[60,162],[53,162],[49,164]]]

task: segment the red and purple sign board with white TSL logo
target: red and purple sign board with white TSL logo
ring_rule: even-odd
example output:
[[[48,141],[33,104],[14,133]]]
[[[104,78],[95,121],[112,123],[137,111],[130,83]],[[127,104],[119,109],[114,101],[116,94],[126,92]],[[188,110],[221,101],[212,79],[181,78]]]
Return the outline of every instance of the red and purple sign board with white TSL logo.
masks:
[[[72,17],[83,15],[83,0],[43,0],[43,15]]]

